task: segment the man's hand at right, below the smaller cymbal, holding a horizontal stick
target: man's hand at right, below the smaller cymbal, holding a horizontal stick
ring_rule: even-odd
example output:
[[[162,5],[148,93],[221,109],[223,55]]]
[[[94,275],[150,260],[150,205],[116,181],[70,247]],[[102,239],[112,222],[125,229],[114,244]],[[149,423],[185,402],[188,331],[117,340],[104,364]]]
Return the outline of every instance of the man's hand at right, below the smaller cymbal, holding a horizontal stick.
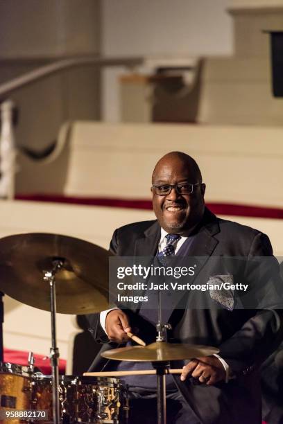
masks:
[[[185,381],[187,376],[198,378],[202,383],[215,385],[216,382],[225,380],[225,369],[215,356],[203,356],[191,360],[183,366],[181,380]]]

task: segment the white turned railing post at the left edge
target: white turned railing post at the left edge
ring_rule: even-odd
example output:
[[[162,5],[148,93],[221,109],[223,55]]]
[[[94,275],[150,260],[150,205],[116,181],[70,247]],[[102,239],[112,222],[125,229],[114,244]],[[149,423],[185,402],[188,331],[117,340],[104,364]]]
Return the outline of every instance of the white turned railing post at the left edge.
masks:
[[[15,197],[15,168],[16,148],[12,125],[12,100],[5,100],[0,105],[1,133],[0,133],[0,197],[12,200]]]

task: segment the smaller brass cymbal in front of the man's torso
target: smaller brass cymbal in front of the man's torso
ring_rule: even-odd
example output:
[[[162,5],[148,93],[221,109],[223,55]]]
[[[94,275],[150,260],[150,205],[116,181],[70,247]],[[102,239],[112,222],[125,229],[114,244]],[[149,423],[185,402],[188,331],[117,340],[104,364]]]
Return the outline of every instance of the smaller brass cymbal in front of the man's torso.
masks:
[[[118,361],[157,362],[185,360],[192,357],[208,356],[218,353],[219,349],[198,344],[171,344],[155,342],[148,346],[128,346],[111,349],[101,356]]]

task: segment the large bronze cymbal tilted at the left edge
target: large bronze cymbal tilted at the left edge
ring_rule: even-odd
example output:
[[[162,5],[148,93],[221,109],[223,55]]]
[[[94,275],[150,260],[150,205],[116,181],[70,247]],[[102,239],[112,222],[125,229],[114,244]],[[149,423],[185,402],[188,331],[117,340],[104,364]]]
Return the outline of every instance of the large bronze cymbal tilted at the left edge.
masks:
[[[57,312],[89,314],[109,308],[110,252],[92,243],[51,233],[26,233],[0,240],[0,290],[35,308],[50,310],[44,271],[53,260],[64,265],[55,276]]]

